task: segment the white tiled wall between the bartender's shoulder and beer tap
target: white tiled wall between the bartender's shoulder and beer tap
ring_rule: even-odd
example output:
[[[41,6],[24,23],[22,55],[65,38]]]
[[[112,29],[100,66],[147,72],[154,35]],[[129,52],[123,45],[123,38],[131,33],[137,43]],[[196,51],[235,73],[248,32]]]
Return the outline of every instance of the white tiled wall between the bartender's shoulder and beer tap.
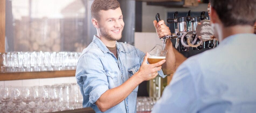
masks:
[[[134,46],[144,53],[150,52],[156,44],[163,45],[156,32],[135,32]]]

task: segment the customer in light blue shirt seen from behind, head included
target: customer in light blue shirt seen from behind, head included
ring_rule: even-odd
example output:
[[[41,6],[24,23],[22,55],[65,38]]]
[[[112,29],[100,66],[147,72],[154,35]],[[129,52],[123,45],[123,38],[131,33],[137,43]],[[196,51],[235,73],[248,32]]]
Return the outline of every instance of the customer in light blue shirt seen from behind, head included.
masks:
[[[220,45],[188,58],[153,113],[256,111],[255,0],[211,0]]]

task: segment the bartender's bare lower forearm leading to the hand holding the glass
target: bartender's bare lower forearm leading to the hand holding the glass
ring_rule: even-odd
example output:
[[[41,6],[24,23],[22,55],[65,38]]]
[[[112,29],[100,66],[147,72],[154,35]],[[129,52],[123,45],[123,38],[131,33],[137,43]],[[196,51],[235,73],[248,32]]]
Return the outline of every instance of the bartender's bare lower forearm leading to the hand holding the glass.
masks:
[[[138,73],[135,73],[122,85],[109,89],[103,93],[96,101],[96,105],[98,106],[99,110],[104,112],[122,102],[141,82],[143,82],[137,77],[139,77]]]

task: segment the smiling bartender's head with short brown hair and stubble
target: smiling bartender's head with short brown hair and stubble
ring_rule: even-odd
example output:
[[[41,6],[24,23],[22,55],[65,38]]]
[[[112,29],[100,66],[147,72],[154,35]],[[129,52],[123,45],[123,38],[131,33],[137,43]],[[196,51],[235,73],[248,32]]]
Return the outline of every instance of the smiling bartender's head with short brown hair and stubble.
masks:
[[[122,37],[124,22],[117,0],[95,0],[91,6],[91,14],[98,35],[111,41]]]

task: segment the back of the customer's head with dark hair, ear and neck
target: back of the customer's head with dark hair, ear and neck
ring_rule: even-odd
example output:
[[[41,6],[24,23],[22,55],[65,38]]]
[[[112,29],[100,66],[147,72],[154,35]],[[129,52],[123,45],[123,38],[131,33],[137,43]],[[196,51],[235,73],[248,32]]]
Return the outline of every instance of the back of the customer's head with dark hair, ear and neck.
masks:
[[[211,21],[215,37],[253,33],[256,0],[211,0]]]

